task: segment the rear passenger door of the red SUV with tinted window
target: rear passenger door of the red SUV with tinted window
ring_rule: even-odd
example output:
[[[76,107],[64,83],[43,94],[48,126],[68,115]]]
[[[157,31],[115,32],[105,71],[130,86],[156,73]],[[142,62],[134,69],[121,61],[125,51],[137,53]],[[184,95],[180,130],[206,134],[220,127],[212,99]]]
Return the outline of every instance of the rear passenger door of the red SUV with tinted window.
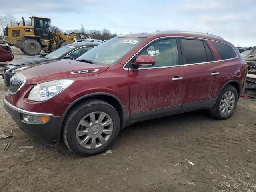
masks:
[[[210,106],[221,66],[205,40],[180,38],[180,43],[186,77],[182,112]]]

